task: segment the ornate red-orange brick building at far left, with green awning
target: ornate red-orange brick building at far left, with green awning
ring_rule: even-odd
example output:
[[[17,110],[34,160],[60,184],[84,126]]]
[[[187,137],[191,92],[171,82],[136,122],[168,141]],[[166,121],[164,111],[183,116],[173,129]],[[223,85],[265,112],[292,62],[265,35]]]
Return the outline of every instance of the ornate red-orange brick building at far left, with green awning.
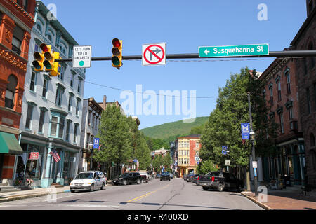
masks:
[[[35,0],[0,1],[0,183],[13,178]]]

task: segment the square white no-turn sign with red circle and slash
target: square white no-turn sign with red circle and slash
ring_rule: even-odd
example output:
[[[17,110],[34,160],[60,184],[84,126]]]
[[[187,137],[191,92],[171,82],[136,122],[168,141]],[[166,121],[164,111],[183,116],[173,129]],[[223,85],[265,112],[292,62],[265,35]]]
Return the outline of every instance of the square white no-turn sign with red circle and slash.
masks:
[[[166,64],[166,43],[143,44],[142,64]]]

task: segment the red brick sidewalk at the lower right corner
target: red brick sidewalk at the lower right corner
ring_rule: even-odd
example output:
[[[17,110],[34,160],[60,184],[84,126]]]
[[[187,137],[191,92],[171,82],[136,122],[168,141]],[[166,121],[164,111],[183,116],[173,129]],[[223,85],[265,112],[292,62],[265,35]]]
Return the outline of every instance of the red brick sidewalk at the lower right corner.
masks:
[[[313,210],[316,209],[316,191],[301,194],[301,190],[287,188],[284,190],[268,190],[267,202],[263,197],[255,197],[253,192],[244,191],[242,195],[266,210]]]

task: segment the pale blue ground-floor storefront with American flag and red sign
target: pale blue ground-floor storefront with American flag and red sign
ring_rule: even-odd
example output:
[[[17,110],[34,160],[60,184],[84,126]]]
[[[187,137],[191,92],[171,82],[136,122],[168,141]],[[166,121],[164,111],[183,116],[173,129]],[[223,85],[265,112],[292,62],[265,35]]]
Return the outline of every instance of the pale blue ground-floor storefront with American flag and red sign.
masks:
[[[20,145],[23,152],[16,158],[15,179],[32,179],[32,187],[48,188],[52,183],[67,185],[77,175],[79,146],[25,132]]]

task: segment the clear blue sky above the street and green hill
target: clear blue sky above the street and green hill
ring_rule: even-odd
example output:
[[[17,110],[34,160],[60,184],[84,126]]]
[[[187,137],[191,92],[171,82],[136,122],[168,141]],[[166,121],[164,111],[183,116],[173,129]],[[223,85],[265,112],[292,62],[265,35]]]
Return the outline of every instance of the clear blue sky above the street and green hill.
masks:
[[[141,55],[146,43],[166,43],[167,54],[197,53],[199,46],[252,43],[268,43],[271,51],[278,51],[289,47],[306,18],[305,1],[297,0],[43,2],[46,6],[56,5],[57,19],[79,45],[92,45],[93,57],[112,56],[112,38],[123,40],[123,55]],[[261,3],[268,7],[268,20],[257,18]],[[99,85],[136,91],[136,85],[141,84],[143,91],[156,93],[196,90],[197,97],[212,97],[196,100],[196,116],[209,116],[216,106],[218,87],[225,85],[230,74],[239,73],[245,66],[264,71],[272,60],[167,59],[163,66],[142,66],[140,60],[132,60],[123,61],[120,70],[113,68],[110,61],[91,62],[86,71],[90,83],[85,83],[84,98],[102,102],[103,95],[107,95],[108,102],[124,102],[121,91]],[[140,129],[185,117],[182,113],[138,116]]]

